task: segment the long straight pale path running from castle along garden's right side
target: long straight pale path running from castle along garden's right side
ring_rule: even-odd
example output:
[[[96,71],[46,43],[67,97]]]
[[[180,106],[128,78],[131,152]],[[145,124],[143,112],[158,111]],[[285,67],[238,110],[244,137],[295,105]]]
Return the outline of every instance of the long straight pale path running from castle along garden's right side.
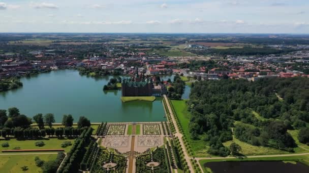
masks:
[[[184,159],[186,159],[186,162],[188,163],[190,172],[194,172],[193,166],[192,166],[191,161],[190,161],[191,157],[189,157],[189,155],[188,155],[188,153],[187,153],[187,151],[186,151],[186,148],[184,147],[184,143],[183,143],[183,141],[182,141],[182,134],[179,133],[179,129],[178,129],[178,126],[177,126],[177,123],[176,123],[176,120],[175,120],[175,117],[174,117],[174,114],[173,114],[171,105],[170,105],[170,103],[169,103],[168,98],[166,97],[166,95],[164,95],[163,97],[164,97],[164,99],[165,99],[165,101],[166,101],[167,108],[168,108],[168,110],[169,110],[169,112],[170,112],[170,115],[171,115],[171,118],[172,118],[172,123],[173,123],[174,126],[175,126],[176,133],[175,133],[174,135],[175,135],[176,137],[178,137],[178,139],[179,139],[179,142],[180,142],[180,146],[181,146],[181,148],[182,148],[182,151],[184,151],[184,152],[183,152]]]

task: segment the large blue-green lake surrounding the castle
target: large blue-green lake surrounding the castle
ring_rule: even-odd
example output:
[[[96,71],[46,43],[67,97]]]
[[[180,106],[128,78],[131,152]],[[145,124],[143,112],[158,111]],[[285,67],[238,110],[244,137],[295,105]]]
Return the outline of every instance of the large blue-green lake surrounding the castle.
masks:
[[[91,122],[165,121],[162,98],[154,102],[122,103],[121,91],[103,92],[103,85],[113,76],[92,78],[76,70],[58,70],[21,78],[23,87],[0,93],[0,109],[17,107],[21,114],[53,113],[56,122],[63,114],[72,114],[74,121],[86,116]],[[163,79],[172,78],[166,75]]]

